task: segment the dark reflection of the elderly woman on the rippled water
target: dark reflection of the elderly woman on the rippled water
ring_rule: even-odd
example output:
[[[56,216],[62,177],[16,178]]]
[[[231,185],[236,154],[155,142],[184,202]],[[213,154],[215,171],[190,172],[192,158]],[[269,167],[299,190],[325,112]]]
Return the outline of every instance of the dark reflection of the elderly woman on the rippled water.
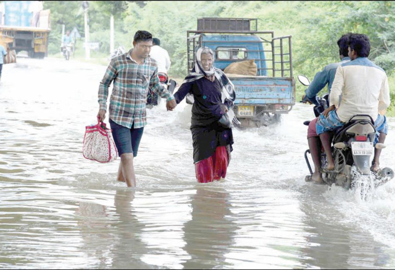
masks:
[[[225,255],[232,246],[237,226],[232,222],[229,194],[223,188],[197,188],[191,196],[192,219],[184,226],[184,250],[191,256],[184,269],[231,267]]]

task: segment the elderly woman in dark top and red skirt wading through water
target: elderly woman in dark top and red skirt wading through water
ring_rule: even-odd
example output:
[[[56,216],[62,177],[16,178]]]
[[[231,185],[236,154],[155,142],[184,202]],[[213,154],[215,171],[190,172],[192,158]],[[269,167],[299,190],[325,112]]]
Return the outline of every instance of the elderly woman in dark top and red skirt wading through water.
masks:
[[[200,183],[219,180],[226,175],[233,150],[232,121],[235,92],[225,74],[213,67],[214,53],[199,48],[192,72],[174,94],[179,104],[187,94],[194,96],[191,132],[196,178]]]

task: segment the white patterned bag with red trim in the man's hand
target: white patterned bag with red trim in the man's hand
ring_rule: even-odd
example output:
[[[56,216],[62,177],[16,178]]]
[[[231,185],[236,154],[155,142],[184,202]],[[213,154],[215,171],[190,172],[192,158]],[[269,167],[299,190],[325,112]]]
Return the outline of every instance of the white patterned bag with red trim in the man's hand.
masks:
[[[82,153],[85,158],[101,163],[114,161],[118,157],[111,130],[99,119],[98,124],[85,127]]]

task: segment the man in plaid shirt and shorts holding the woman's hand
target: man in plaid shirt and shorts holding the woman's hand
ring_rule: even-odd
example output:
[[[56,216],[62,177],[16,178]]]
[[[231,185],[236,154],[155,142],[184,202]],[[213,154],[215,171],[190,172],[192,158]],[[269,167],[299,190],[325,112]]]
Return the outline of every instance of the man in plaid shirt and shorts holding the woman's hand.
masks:
[[[133,157],[137,155],[144,126],[147,124],[145,106],[148,89],[167,100],[168,111],[176,108],[173,95],[160,84],[158,65],[149,57],[151,47],[152,34],[137,31],[134,35],[133,49],[111,59],[99,86],[98,118],[104,121],[108,87],[113,82],[109,123],[121,157],[117,180],[126,182],[128,187],[136,186]]]

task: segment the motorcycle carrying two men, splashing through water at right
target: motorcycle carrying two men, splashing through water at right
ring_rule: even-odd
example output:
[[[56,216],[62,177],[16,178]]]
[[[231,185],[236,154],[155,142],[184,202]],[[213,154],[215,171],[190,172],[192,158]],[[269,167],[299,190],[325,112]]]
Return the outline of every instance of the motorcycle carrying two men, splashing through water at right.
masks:
[[[299,82],[308,86],[310,81],[303,75],[297,76]],[[300,101],[304,102],[304,101]],[[311,101],[310,101],[311,102]],[[329,93],[326,93],[316,101],[312,101],[314,106],[314,114],[319,116],[326,108],[329,107]],[[310,121],[305,121],[303,124],[308,126]],[[354,188],[356,177],[361,175],[373,176],[373,186],[366,186],[365,189],[378,187],[392,178],[394,178],[394,171],[391,168],[384,167],[378,172],[370,170],[372,155],[374,154],[374,140],[376,136],[376,129],[374,127],[373,119],[368,115],[355,115],[349,119],[346,124],[330,132],[332,157],[335,161],[335,168],[333,170],[326,170],[327,163],[326,154],[321,147],[321,176],[325,184],[332,185],[333,183],[342,186],[346,189]],[[379,149],[385,148],[384,143],[376,143],[375,147]],[[307,163],[310,175],[313,171],[307,154],[310,150],[304,152],[304,159]]]

